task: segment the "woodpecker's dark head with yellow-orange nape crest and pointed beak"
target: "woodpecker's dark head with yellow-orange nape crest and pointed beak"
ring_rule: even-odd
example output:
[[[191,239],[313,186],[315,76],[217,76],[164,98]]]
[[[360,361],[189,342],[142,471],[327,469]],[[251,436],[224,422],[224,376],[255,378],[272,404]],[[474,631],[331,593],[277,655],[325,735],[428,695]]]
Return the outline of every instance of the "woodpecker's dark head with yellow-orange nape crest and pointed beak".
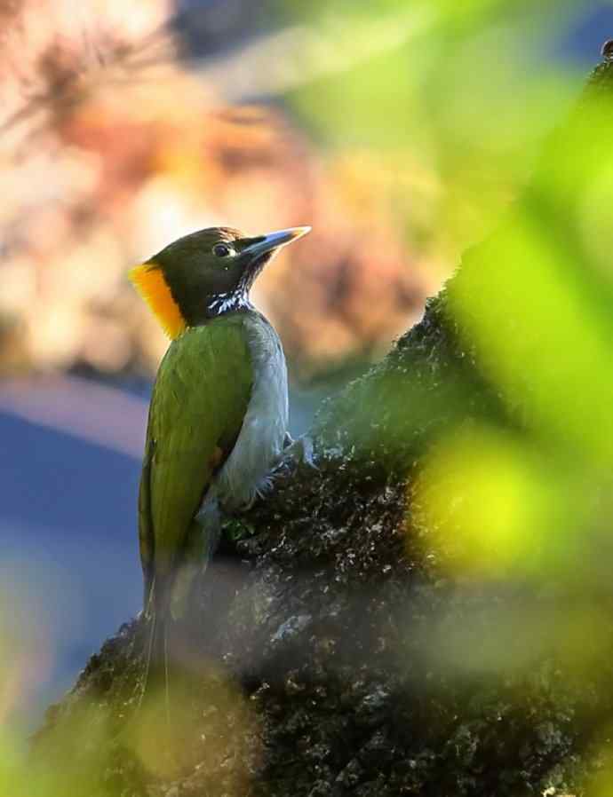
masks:
[[[166,334],[175,338],[186,327],[248,307],[262,268],[310,229],[247,237],[231,227],[209,227],[169,244],[129,276]]]

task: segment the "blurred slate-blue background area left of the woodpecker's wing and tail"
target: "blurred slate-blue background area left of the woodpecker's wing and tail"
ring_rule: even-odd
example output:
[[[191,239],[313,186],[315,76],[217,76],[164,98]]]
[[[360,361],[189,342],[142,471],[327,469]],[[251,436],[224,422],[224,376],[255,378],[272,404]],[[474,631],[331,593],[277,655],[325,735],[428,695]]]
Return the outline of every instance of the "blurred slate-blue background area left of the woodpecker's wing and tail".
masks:
[[[140,463],[9,414],[0,440],[0,577],[24,594],[12,611],[33,616],[21,624],[42,625],[58,643],[48,681],[24,708],[29,724],[139,610]]]

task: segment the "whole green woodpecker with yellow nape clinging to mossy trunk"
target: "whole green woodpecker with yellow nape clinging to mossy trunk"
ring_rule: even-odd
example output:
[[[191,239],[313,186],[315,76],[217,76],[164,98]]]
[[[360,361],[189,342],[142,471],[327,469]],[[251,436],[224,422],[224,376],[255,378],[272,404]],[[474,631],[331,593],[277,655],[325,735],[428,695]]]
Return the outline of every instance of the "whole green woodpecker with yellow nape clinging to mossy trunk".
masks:
[[[186,616],[219,543],[220,510],[248,509],[266,493],[291,440],[283,345],[250,289],[310,229],[209,227],[129,272],[171,339],[151,395],[138,501],[147,670],[161,663],[166,687],[169,628]]]

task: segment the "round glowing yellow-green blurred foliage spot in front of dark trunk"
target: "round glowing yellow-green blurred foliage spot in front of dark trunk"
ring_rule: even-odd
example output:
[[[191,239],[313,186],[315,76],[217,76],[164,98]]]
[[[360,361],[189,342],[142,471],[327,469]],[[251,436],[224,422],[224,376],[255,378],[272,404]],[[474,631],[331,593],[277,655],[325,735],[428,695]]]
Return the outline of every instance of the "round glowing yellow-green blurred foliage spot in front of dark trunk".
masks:
[[[539,578],[560,565],[577,574],[574,534],[587,520],[591,487],[554,457],[470,427],[430,453],[422,478],[430,533],[448,564],[478,578]]]

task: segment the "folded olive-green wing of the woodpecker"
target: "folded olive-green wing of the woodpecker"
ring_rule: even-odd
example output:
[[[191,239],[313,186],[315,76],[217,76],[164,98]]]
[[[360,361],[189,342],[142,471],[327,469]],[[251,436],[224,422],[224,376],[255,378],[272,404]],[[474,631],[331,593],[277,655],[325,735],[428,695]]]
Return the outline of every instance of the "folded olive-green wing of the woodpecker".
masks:
[[[147,570],[158,577],[177,564],[211,477],[241,430],[252,380],[240,315],[190,328],[166,352],[151,398],[139,501],[146,579]]]

